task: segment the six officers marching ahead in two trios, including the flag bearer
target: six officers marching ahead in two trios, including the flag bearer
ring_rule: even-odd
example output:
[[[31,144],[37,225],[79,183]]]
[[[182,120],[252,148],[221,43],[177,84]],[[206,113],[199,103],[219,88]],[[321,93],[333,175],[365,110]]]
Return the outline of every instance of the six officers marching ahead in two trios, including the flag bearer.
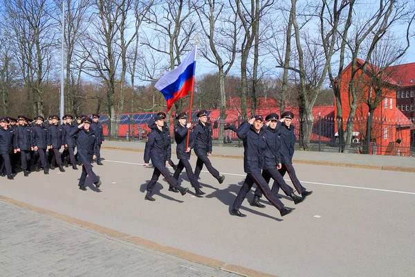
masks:
[[[199,122],[193,128],[191,128],[191,123],[187,121],[185,112],[176,116],[178,123],[174,128],[174,139],[177,144],[176,154],[179,160],[177,166],[172,164],[171,161],[170,132],[165,123],[165,113],[158,113],[153,118],[154,120],[149,123],[152,131],[147,136],[144,161],[145,166],[148,167],[151,159],[154,172],[147,184],[146,200],[151,202],[156,200],[152,197],[152,190],[160,175],[163,175],[167,180],[170,191],[185,195],[188,188],[180,186],[178,181],[183,168],[186,169],[187,177],[198,197],[205,194],[201,191],[202,186],[198,181],[203,165],[219,181],[219,184],[223,183],[225,176],[220,175],[209,159],[212,153],[212,126],[208,123],[207,112],[201,110],[196,116],[199,118]],[[243,169],[246,172],[246,179],[232,205],[230,215],[246,217],[239,211],[239,208],[253,184],[257,185],[257,190],[255,190],[255,196],[250,205],[265,208],[265,205],[259,202],[261,196],[264,195],[270,204],[273,204],[279,210],[282,216],[291,213],[293,208],[287,208],[279,199],[279,188],[288,197],[291,197],[295,204],[303,202],[308,195],[313,193],[307,191],[295,175],[292,161],[296,141],[295,127],[291,125],[293,117],[294,114],[291,111],[284,112],[281,119],[279,119],[278,114],[272,113],[268,114],[266,118],[255,116],[240,125],[239,128],[234,125],[231,126],[231,129],[237,132],[239,139],[243,141]],[[265,121],[266,124],[264,125]],[[189,162],[192,149],[194,149],[197,156],[194,172]],[[173,176],[166,168],[168,164],[174,168]],[[294,189],[284,181],[283,177],[286,173],[293,182],[297,193],[301,196],[295,195]],[[272,189],[268,186],[270,179],[274,180]]]

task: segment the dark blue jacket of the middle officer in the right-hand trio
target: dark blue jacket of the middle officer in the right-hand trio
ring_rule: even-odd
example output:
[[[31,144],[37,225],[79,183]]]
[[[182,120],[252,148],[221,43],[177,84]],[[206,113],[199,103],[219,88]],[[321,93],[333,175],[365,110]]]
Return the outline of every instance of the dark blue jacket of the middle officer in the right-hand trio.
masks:
[[[265,129],[263,139],[266,142],[266,151],[264,153],[264,169],[277,168],[277,164],[281,163],[281,154],[279,148],[281,146],[281,138],[277,128],[272,129],[269,126]]]

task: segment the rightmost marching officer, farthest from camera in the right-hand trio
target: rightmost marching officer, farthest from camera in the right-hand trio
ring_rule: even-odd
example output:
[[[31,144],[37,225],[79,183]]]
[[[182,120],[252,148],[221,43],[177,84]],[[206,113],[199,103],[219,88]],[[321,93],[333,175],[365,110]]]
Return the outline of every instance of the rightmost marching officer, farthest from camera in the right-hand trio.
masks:
[[[302,184],[297,179],[297,175],[295,175],[295,170],[293,167],[293,155],[294,155],[294,145],[297,138],[295,137],[294,129],[295,126],[291,124],[294,118],[294,114],[292,111],[285,111],[281,115],[281,119],[279,120],[282,124],[279,128],[279,133],[281,136],[281,156],[282,156],[282,168],[279,169],[279,173],[282,176],[288,172],[288,176],[290,176],[295,189],[302,197],[306,197],[311,195],[313,191],[307,191],[306,188],[302,186]],[[278,190],[278,188],[277,188]]]

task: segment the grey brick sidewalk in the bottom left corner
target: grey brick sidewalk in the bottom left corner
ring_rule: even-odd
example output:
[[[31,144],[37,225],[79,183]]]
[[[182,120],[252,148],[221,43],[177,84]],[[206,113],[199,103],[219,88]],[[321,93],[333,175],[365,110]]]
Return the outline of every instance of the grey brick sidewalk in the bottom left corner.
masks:
[[[0,276],[240,276],[0,201]]]

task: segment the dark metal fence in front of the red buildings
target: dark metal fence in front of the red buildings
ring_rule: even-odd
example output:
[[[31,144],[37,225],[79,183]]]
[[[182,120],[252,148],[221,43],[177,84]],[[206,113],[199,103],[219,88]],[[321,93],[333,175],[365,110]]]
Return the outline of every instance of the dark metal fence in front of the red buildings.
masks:
[[[126,116],[122,120],[112,121],[111,127],[115,128],[111,136],[109,132],[110,120],[102,120],[104,135],[109,139],[122,141],[143,141],[151,131],[148,127],[151,116],[136,118]],[[246,118],[210,118],[212,126],[212,138],[216,144],[227,144],[242,146],[236,132],[232,129],[223,129],[234,125],[239,127]],[[192,116],[191,123],[197,124],[198,119]],[[174,126],[177,120],[173,117],[167,118],[167,124],[174,138]],[[297,149],[323,151],[323,152],[347,152],[361,154],[384,154],[396,156],[415,157],[415,125],[411,120],[380,120],[374,118],[369,122],[367,118],[355,118],[351,121],[337,120],[316,116],[313,120],[306,122],[294,118],[292,125],[295,126],[297,136]],[[338,129],[344,130],[344,136],[339,136]],[[347,141],[347,126],[350,136]],[[367,139],[369,128],[370,139]],[[340,129],[341,132],[341,129]],[[220,139],[219,139],[220,138]],[[342,139],[344,138],[344,139]]]

